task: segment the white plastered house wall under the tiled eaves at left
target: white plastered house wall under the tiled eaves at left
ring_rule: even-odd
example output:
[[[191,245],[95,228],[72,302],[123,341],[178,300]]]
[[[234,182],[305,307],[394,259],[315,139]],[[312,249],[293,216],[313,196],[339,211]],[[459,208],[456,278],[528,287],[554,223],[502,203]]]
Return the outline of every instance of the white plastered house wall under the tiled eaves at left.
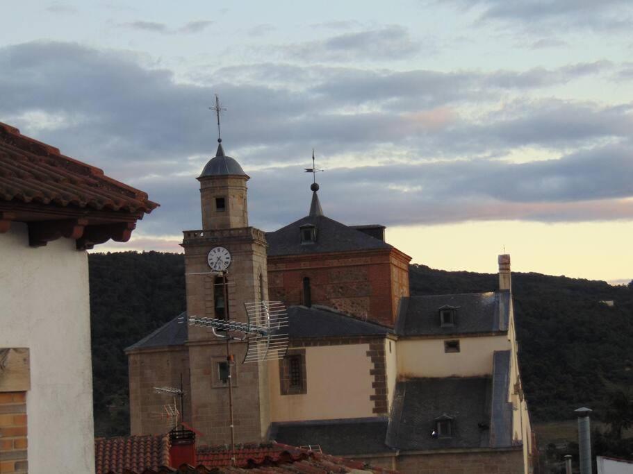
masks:
[[[28,471],[94,473],[88,255],[72,239],[0,234],[0,347],[28,347]]]

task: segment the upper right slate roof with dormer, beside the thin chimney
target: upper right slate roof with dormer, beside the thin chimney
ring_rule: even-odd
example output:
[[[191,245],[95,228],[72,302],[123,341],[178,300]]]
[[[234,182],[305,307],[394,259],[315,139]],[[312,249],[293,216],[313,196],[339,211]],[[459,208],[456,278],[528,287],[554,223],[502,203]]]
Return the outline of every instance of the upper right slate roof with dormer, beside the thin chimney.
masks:
[[[455,324],[442,327],[441,307],[457,307]],[[508,330],[509,291],[409,296],[400,300],[396,333],[402,336],[468,335]]]

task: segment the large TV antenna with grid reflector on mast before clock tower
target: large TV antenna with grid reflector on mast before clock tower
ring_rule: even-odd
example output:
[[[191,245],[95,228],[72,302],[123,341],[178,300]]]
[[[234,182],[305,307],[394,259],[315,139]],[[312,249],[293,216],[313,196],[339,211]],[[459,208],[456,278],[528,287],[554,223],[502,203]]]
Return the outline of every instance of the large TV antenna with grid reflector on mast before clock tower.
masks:
[[[222,275],[224,294],[224,319],[190,316],[189,325],[211,328],[213,335],[227,341],[227,385],[229,386],[229,428],[231,428],[231,466],[235,466],[235,426],[233,423],[233,380],[231,367],[235,359],[231,354],[231,341],[246,341],[247,350],[242,364],[283,359],[288,352],[288,312],[281,301],[257,301],[244,303],[247,322],[231,321],[229,317],[229,292],[227,272]]]

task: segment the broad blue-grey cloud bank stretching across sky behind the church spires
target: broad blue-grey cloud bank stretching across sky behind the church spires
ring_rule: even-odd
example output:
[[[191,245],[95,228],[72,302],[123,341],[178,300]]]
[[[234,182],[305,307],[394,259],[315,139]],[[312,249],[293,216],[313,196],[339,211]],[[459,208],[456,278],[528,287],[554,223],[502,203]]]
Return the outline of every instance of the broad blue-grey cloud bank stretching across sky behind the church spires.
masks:
[[[142,223],[147,238],[200,226],[195,177],[215,151],[214,92],[229,109],[224,149],[252,176],[252,220],[267,230],[306,214],[302,168],[313,146],[327,169],[324,210],[346,223],[630,219],[633,104],[529,98],[613,69],[269,63],[208,71],[193,84],[131,53],[33,42],[0,49],[0,117],[149,192],[161,208]],[[524,150],[537,161],[504,160]]]

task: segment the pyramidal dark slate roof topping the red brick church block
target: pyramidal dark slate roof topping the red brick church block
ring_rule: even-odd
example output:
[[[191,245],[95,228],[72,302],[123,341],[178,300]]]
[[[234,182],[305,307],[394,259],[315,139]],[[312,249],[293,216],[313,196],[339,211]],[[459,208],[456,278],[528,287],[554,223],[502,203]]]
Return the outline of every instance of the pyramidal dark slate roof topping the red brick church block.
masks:
[[[299,228],[306,224],[317,228],[314,244],[301,243]],[[386,242],[325,216],[306,216],[279,230],[267,232],[266,241],[269,257],[393,248]]]

